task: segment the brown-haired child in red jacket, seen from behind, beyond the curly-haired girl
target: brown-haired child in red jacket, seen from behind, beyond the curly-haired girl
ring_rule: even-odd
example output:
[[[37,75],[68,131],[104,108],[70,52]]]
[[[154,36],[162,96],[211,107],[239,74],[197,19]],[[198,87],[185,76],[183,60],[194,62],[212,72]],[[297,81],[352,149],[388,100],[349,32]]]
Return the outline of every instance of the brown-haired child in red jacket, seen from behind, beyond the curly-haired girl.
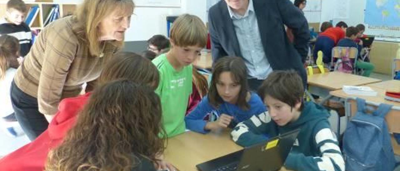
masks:
[[[132,52],[119,52],[110,60],[100,74],[100,84],[128,79],[136,84],[148,85],[153,91],[157,88],[159,74],[150,60]],[[90,95],[86,93],[63,99],[48,129],[34,141],[0,159],[0,170],[43,171],[48,152],[62,143]]]

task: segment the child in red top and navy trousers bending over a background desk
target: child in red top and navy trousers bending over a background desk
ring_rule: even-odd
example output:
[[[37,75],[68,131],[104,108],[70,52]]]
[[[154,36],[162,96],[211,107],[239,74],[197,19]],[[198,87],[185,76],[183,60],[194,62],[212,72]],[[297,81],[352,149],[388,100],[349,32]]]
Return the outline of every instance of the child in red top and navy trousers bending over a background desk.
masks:
[[[313,52],[314,61],[317,60],[318,51],[324,54],[322,61],[324,64],[329,64],[332,58],[332,48],[336,46],[340,39],[344,38],[346,34],[347,24],[345,22],[338,22],[336,27],[328,28],[320,33],[315,43]]]

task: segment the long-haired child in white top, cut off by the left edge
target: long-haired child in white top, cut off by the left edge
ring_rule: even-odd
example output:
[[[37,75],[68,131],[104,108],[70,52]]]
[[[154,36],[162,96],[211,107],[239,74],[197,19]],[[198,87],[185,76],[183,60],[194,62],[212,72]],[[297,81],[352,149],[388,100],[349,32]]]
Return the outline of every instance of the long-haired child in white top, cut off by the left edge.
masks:
[[[14,36],[0,36],[0,114],[2,117],[2,127],[6,129],[6,133],[13,137],[19,135],[22,130],[14,115],[10,99],[11,82],[16,73],[16,69],[12,68],[14,64],[18,67],[18,54],[20,44]]]

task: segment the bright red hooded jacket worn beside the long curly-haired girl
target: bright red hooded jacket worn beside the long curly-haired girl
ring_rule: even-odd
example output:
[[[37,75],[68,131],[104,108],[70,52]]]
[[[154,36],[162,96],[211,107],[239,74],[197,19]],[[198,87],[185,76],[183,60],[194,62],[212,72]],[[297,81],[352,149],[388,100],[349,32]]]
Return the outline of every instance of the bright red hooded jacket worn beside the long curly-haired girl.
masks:
[[[48,152],[62,143],[89,96],[90,93],[86,93],[63,99],[46,131],[34,141],[0,159],[0,171],[43,171]]]

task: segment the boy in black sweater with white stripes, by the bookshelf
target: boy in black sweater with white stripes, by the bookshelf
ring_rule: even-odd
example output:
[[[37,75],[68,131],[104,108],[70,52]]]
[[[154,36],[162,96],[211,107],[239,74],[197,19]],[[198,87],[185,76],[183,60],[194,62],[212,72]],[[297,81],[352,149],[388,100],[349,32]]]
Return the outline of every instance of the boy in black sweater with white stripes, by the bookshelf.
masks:
[[[22,0],[7,2],[6,16],[0,19],[0,35],[10,34],[16,37],[20,44],[20,56],[28,54],[32,46],[32,33],[24,23],[27,8]]]

